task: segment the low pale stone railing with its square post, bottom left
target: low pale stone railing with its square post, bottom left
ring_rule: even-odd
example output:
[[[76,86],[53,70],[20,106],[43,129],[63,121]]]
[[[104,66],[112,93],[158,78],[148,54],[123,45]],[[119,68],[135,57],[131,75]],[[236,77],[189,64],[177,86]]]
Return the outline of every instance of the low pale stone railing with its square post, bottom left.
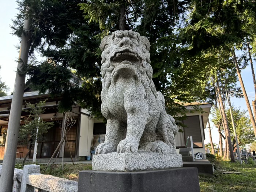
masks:
[[[1,175],[2,165],[0,165]],[[12,192],[77,192],[78,182],[40,174],[39,165],[25,165],[14,170]]]

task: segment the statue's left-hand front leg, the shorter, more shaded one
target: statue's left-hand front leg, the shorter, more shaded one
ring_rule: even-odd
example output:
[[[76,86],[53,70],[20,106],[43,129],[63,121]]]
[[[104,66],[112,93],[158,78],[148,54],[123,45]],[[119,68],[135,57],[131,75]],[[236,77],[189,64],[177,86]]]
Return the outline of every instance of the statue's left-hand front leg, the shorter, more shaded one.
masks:
[[[97,146],[95,155],[115,152],[118,143],[123,139],[126,124],[115,117],[107,121],[106,135],[104,143]]]

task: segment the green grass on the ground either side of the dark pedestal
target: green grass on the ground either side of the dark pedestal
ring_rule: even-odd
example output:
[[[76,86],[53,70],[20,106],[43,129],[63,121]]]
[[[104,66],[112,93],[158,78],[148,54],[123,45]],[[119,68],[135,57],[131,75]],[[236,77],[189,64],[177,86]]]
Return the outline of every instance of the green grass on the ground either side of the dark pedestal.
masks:
[[[216,161],[214,177],[199,176],[201,192],[256,192],[256,165],[240,165],[227,161]],[[16,168],[21,168],[16,166]],[[60,164],[49,166],[43,172],[45,165],[41,165],[41,173],[56,177],[78,181],[80,170],[91,170],[91,164]],[[241,172],[241,174],[222,174],[222,172]]]

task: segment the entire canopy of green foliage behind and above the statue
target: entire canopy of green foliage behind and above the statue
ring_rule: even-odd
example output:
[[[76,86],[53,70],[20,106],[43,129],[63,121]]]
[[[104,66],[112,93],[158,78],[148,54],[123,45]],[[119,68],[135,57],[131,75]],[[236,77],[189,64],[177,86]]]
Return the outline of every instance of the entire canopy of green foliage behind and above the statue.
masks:
[[[21,37],[23,20],[30,15],[30,60],[34,50],[46,58],[30,63],[29,82],[42,93],[61,94],[61,111],[79,103],[100,116],[98,47],[103,36],[119,29],[120,20],[125,20],[125,29],[150,40],[153,81],[173,116],[185,114],[179,102],[214,101],[212,76],[221,89],[240,92],[230,50],[244,49],[246,41],[252,53],[256,50],[254,0],[18,0],[18,4],[13,33]],[[27,13],[26,7],[30,7]],[[245,53],[241,60],[244,68]]]

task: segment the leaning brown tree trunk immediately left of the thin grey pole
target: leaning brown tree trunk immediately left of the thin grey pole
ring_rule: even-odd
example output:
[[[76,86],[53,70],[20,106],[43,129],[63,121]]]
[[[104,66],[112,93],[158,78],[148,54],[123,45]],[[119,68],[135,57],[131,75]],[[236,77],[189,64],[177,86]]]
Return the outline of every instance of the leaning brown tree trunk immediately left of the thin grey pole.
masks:
[[[226,139],[227,139],[227,148],[229,150],[227,150],[227,158],[229,158],[230,155],[230,160],[231,162],[236,162],[235,157],[234,157],[234,153],[233,153],[233,148],[232,148],[232,142],[231,142],[231,138],[230,138],[230,131],[229,131],[229,125],[227,123],[227,116],[225,113],[225,108],[223,106],[223,100],[221,97],[221,90],[219,89],[219,83],[218,80],[216,80],[216,84],[217,84],[217,93],[219,96],[219,103],[220,103],[220,108],[221,108],[221,112],[222,112],[222,117],[223,117],[223,121],[225,124],[225,130],[226,130]]]

